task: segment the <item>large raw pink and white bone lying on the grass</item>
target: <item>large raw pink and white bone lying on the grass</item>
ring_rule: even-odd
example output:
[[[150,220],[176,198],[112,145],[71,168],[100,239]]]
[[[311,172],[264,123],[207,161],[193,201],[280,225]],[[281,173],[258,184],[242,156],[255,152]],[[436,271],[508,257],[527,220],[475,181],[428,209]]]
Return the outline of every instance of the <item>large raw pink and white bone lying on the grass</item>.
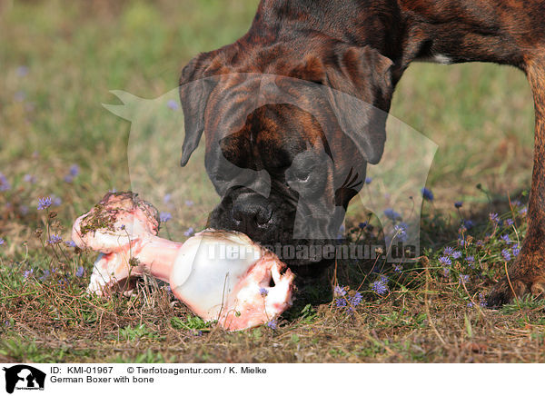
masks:
[[[205,230],[175,243],[157,236],[159,223],[154,206],[134,193],[108,193],[80,216],[74,243],[101,252],[87,291],[102,295],[148,273],[205,321],[231,331],[272,321],[292,305],[293,273],[243,233]]]

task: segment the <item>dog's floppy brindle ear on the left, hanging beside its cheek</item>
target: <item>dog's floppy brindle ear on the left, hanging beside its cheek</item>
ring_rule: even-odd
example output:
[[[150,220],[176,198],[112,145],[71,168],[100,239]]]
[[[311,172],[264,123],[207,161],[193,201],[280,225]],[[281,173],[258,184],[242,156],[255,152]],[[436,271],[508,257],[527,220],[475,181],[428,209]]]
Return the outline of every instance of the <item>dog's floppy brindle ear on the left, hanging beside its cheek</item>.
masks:
[[[200,54],[183,68],[180,77],[180,101],[185,124],[180,161],[182,166],[189,161],[189,157],[199,145],[204,131],[204,110],[208,96],[217,84],[216,78],[206,77],[216,74],[220,68],[221,62],[213,53]]]

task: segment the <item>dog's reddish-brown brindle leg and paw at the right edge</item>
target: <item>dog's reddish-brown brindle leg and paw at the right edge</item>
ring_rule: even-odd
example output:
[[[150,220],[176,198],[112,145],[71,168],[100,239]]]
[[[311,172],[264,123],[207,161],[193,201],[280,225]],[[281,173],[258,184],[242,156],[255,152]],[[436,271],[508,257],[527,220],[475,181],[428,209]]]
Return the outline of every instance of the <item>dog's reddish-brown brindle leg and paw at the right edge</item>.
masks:
[[[490,307],[510,302],[513,293],[517,297],[528,292],[545,296],[545,48],[527,62],[526,74],[536,112],[528,232],[516,262],[490,292]]]

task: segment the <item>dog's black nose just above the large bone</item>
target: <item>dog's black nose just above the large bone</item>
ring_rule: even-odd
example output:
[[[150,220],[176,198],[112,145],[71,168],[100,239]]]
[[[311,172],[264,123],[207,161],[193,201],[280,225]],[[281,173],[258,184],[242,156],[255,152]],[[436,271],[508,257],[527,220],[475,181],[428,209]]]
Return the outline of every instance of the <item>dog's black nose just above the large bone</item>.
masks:
[[[272,209],[263,195],[242,193],[233,203],[233,219],[238,231],[252,235],[263,228],[272,217]]]

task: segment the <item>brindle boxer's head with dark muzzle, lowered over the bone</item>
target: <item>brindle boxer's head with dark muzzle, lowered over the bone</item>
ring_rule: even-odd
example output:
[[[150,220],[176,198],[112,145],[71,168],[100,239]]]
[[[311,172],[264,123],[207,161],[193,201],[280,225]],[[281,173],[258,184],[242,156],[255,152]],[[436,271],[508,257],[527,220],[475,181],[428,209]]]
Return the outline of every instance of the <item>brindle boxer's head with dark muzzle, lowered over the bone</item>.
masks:
[[[209,225],[264,245],[336,239],[366,164],[381,158],[391,64],[369,46],[318,36],[239,40],[194,58],[180,80],[182,165],[204,133],[222,197]]]

